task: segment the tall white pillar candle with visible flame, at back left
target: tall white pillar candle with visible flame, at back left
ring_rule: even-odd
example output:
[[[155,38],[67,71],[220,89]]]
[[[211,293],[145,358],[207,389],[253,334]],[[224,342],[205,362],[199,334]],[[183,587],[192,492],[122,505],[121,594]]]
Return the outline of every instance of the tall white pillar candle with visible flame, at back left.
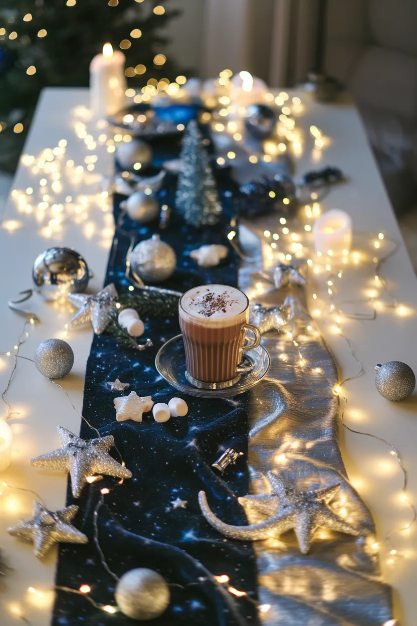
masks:
[[[90,106],[96,118],[113,115],[123,109],[126,96],[126,76],[123,52],[113,51],[105,43],[103,54],[94,56],[90,63]]]

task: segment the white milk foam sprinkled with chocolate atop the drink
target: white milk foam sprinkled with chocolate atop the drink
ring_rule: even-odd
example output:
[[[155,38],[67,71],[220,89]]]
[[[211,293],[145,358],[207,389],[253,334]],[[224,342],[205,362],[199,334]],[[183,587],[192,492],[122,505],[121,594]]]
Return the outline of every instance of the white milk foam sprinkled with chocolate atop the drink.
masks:
[[[194,287],[181,297],[181,308],[198,324],[209,326],[212,320],[224,319],[229,326],[230,317],[239,315],[248,305],[248,299],[239,289],[227,285],[201,285]],[[216,324],[216,326],[218,325]]]

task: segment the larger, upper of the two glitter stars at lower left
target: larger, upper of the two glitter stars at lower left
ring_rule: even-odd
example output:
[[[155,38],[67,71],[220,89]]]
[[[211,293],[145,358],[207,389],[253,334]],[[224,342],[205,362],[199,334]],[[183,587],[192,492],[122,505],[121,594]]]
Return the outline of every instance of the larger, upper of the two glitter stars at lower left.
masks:
[[[88,476],[104,474],[114,478],[132,478],[131,471],[109,454],[109,449],[114,446],[112,435],[97,439],[81,439],[63,426],[58,426],[57,431],[63,447],[36,456],[29,463],[37,468],[69,472],[74,498],[81,496],[84,485],[87,485]]]

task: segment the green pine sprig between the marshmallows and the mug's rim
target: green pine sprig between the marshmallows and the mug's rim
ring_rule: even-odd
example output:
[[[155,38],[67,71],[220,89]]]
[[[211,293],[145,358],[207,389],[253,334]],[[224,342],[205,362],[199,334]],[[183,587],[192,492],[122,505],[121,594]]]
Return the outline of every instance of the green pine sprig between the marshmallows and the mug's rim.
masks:
[[[135,309],[141,317],[175,317],[181,294],[168,289],[135,287],[134,291],[121,294],[118,302],[123,309]]]

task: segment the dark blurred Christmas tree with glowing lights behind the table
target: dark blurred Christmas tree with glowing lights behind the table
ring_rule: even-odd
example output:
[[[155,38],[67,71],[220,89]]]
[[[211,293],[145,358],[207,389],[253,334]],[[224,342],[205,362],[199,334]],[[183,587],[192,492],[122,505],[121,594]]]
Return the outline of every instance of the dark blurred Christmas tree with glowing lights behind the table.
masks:
[[[109,41],[126,55],[129,87],[178,74],[159,30],[169,0],[1,0],[0,168],[13,171],[39,91],[89,84],[89,63]],[[167,83],[168,85],[168,83]],[[23,130],[22,130],[23,129]]]

